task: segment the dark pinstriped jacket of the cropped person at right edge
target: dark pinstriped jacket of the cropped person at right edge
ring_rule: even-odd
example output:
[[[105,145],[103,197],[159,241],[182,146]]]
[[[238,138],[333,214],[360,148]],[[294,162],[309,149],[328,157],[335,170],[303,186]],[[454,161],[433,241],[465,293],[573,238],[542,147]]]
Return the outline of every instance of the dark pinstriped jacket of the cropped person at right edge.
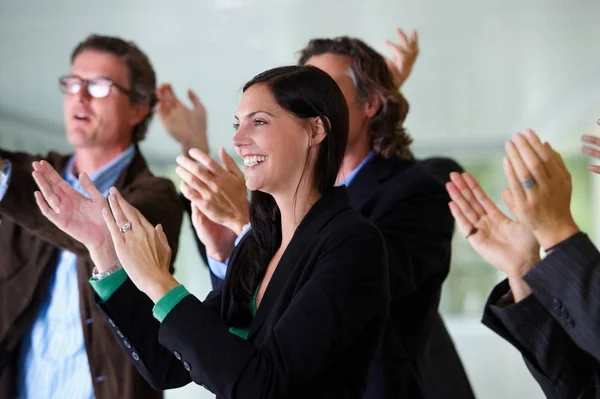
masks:
[[[549,398],[600,397],[600,253],[583,234],[564,241],[524,277],[532,294],[500,307],[492,291],[483,324],[523,355]]]

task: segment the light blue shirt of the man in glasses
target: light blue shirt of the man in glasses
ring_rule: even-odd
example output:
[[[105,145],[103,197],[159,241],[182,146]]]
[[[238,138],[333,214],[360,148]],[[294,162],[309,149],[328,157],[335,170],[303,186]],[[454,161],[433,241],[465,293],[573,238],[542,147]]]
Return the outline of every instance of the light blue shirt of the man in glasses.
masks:
[[[135,147],[132,145],[110,163],[91,173],[90,179],[100,192],[108,195],[108,190],[134,156]],[[7,179],[9,177],[10,170]],[[74,174],[74,157],[69,160],[63,177],[71,187],[86,195]],[[0,200],[6,193],[6,186],[2,190],[0,182]],[[88,319],[85,323],[93,321]],[[90,372],[79,310],[77,256],[59,250],[56,271],[51,278],[48,293],[21,345],[17,375],[18,397],[94,398],[92,378],[96,382],[102,382],[105,376],[92,376]]]

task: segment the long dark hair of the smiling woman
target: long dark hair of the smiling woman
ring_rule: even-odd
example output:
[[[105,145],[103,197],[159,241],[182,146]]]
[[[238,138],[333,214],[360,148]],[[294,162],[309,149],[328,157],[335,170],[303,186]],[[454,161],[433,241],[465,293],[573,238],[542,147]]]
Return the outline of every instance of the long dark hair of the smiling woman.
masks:
[[[256,84],[266,85],[279,106],[297,118],[318,117],[323,122],[326,137],[320,143],[310,178],[324,194],[335,184],[348,141],[348,107],[342,91],[327,73],[311,66],[270,69],[246,83],[243,91]],[[304,171],[307,167],[308,157]],[[281,245],[281,213],[274,198],[260,191],[253,191],[251,198],[252,230],[230,265],[229,287],[235,307],[229,321],[232,325],[249,324],[250,299]]]

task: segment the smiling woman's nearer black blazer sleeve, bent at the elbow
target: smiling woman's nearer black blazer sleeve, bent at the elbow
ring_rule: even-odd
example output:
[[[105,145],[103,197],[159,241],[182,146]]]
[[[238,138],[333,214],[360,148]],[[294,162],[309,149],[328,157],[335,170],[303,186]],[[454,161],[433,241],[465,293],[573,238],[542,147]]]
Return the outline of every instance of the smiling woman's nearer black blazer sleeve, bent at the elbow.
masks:
[[[331,238],[260,347],[229,333],[193,296],[167,315],[160,343],[180,353],[192,379],[219,397],[288,397],[322,375],[367,325],[381,319],[383,328],[389,301],[385,265],[379,232],[354,229]]]

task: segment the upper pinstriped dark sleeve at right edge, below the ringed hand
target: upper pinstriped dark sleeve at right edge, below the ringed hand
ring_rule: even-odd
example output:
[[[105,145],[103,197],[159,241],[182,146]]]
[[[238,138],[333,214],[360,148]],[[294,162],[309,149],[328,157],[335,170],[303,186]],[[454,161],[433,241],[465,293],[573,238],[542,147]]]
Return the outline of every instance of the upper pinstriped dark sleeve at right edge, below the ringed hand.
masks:
[[[600,361],[600,253],[577,233],[524,277],[569,336]]]

